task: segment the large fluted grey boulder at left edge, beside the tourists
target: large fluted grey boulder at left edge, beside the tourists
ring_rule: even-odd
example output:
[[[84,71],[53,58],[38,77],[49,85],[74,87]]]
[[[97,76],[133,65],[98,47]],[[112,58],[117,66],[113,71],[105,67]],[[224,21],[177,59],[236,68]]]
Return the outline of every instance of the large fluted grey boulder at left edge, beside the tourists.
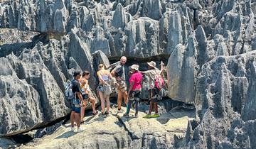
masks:
[[[63,92],[36,50],[1,57],[1,107],[1,136],[43,126],[69,111]]]

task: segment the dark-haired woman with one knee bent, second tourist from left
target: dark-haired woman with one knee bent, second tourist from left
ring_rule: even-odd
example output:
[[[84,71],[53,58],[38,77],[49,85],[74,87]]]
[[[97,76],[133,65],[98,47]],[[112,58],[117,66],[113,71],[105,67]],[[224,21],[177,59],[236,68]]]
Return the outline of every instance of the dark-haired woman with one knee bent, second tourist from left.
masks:
[[[84,123],[83,118],[85,116],[85,107],[87,105],[87,102],[90,101],[92,103],[92,111],[93,114],[97,114],[97,111],[95,110],[95,98],[91,98],[89,92],[90,92],[90,87],[89,87],[89,82],[88,79],[90,78],[90,72],[84,71],[82,72],[82,77],[78,80],[80,82],[80,87],[82,91],[82,101],[84,102],[85,106],[81,107],[81,120],[80,123]],[[84,84],[84,85],[82,85]]]

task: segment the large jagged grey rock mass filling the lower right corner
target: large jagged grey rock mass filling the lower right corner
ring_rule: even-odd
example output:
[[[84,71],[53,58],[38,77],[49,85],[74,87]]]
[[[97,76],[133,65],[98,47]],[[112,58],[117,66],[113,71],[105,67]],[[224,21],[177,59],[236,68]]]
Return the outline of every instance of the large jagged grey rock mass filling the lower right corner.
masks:
[[[217,57],[198,77],[191,148],[255,148],[255,51]],[[251,127],[252,129],[250,129]],[[250,131],[249,131],[250,129]],[[238,131],[240,130],[240,131]]]

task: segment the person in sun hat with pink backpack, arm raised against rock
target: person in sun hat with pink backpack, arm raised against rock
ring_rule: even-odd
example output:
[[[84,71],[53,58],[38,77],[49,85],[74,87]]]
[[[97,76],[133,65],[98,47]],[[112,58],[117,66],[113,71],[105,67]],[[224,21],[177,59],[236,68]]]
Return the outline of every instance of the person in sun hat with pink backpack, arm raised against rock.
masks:
[[[151,61],[147,62],[147,65],[149,67],[149,70],[142,72],[143,75],[146,75],[149,77],[149,100],[150,100],[150,106],[149,106],[149,113],[144,116],[144,118],[152,118],[152,117],[159,117],[158,114],[158,94],[160,90],[160,86],[163,85],[161,81],[161,70],[156,68],[156,62]],[[151,115],[152,110],[155,110],[155,114]]]

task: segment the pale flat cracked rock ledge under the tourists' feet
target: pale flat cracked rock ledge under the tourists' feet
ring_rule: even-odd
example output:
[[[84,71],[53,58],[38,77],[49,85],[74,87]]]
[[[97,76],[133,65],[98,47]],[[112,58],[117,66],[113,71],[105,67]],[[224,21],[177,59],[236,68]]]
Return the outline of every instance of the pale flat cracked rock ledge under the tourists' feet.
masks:
[[[110,116],[86,116],[81,133],[70,131],[70,123],[60,126],[54,133],[44,136],[40,140],[20,148],[174,148],[180,145],[186,134],[188,121],[193,119],[194,111],[170,112],[173,117],[165,123],[159,118],[134,118],[134,111],[130,117],[122,117],[124,113],[116,115],[117,109],[111,109]],[[189,116],[189,117],[188,117]]]

